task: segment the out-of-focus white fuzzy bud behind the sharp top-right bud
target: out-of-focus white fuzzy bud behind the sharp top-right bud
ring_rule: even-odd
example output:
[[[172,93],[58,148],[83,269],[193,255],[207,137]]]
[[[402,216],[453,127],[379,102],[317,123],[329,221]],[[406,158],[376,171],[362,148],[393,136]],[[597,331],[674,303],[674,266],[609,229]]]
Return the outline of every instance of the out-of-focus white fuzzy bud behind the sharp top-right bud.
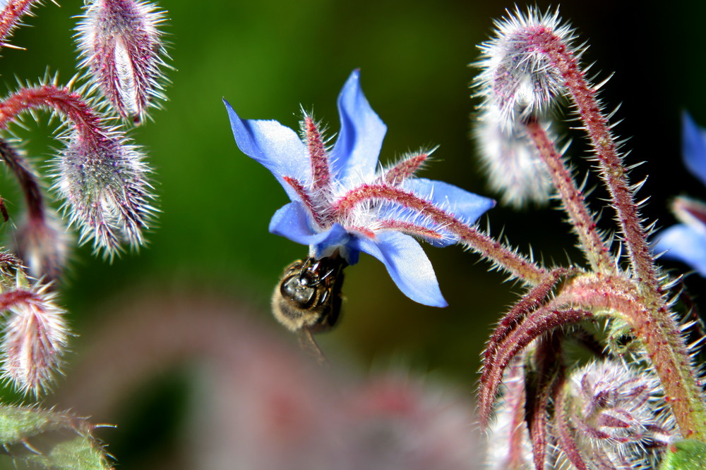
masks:
[[[543,204],[549,200],[549,172],[525,130],[503,129],[500,113],[486,107],[475,134],[490,186],[503,194],[504,204],[522,207],[528,202]]]

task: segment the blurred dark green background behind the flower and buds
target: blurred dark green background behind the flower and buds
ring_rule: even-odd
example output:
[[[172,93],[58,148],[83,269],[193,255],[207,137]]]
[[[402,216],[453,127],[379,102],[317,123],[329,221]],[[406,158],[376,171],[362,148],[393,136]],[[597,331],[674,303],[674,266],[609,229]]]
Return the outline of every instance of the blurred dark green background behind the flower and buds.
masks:
[[[549,6],[539,1],[540,8]],[[3,49],[2,85],[16,78],[35,81],[47,67],[60,82],[76,73],[72,39],[82,2],[48,4],[28,18],[12,44]],[[608,109],[622,104],[618,135],[631,137],[630,163],[647,160],[633,173],[651,174],[642,190],[652,194],[645,214],[671,225],[669,197],[706,190],[681,166],[679,119],[683,109],[706,124],[706,37],[700,27],[706,4],[697,1],[564,2],[561,16],[577,28],[590,48],[583,60],[596,62],[598,80],[615,72],[604,87]],[[148,152],[160,197],[159,226],[150,246],[108,264],[78,249],[61,302],[71,312],[79,335],[102,321],[100,311],[136,292],[191,290],[242,299],[259,321],[277,328],[282,341],[295,338],[269,314],[270,292],[282,269],[306,255],[306,247],[270,235],[270,217],[287,202],[275,179],[235,146],[222,97],[244,118],[266,118],[297,128],[300,106],[336,132],[335,99],[353,68],[373,109],[388,125],[381,161],[405,151],[439,145],[424,171],[479,194],[490,195],[469,140],[477,101],[469,99],[477,59],[475,46],[491,31],[492,18],[512,8],[497,1],[162,1],[164,25],[177,70],[168,73],[169,101],[163,111],[131,132]],[[524,7],[522,7],[524,8]],[[5,93],[5,92],[4,92]],[[46,116],[46,115],[42,115]],[[28,154],[49,161],[52,125],[25,119]],[[574,125],[569,122],[568,125]],[[570,154],[585,154],[580,133]],[[585,171],[587,164],[577,160]],[[590,179],[589,186],[597,185]],[[17,215],[21,198],[13,183],[3,185],[9,210]],[[14,194],[14,195],[13,195]],[[592,207],[604,197],[595,193]],[[604,228],[611,228],[606,211]],[[563,215],[551,208],[516,212],[498,206],[488,216],[493,234],[501,233],[527,252],[530,245],[548,264],[581,261]],[[481,223],[486,223],[486,218]],[[421,373],[433,372],[461,383],[470,394],[477,380],[479,354],[491,324],[513,302],[520,286],[504,283],[501,273],[458,247],[427,247],[441,290],[450,306],[424,307],[395,287],[381,263],[362,256],[347,269],[344,318],[322,335],[321,347],[335,363],[346,357],[366,370],[371,364],[402,360]],[[674,265],[676,268],[681,266]],[[695,292],[699,279],[690,278]],[[76,340],[80,354],[83,339]],[[71,367],[67,369],[71,375]],[[109,438],[110,440],[111,438]],[[117,452],[117,451],[116,451]],[[119,457],[121,457],[119,455]]]

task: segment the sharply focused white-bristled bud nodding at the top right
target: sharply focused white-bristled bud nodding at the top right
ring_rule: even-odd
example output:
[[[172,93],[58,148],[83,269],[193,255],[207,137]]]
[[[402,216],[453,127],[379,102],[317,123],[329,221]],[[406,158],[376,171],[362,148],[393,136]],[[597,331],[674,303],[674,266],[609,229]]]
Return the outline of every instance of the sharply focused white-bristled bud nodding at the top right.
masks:
[[[532,37],[552,32],[566,44],[572,30],[559,24],[558,13],[542,15],[534,8],[526,15],[518,8],[495,26],[495,37],[480,46],[477,66],[482,70],[475,85],[486,104],[498,109],[501,128],[507,131],[519,120],[544,112],[564,93],[561,73]]]

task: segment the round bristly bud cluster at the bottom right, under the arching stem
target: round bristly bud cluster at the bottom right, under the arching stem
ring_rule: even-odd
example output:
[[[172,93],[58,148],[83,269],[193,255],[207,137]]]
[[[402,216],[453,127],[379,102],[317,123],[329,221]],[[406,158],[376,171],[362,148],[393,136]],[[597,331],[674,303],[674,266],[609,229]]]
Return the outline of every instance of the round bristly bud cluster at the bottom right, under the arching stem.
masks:
[[[659,384],[647,371],[618,361],[594,362],[575,371],[568,387],[565,411],[591,468],[643,468],[655,458],[649,450],[676,435]]]

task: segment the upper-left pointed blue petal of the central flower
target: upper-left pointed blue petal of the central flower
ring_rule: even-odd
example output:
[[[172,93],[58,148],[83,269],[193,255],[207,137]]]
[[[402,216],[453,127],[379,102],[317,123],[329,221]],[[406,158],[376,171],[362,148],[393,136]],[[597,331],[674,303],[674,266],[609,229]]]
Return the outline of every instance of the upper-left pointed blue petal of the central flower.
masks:
[[[297,192],[282,178],[295,178],[305,186],[311,179],[309,153],[297,132],[276,120],[243,120],[228,101],[224,99],[223,102],[238,148],[271,171],[287,191],[289,199],[299,199]]]

